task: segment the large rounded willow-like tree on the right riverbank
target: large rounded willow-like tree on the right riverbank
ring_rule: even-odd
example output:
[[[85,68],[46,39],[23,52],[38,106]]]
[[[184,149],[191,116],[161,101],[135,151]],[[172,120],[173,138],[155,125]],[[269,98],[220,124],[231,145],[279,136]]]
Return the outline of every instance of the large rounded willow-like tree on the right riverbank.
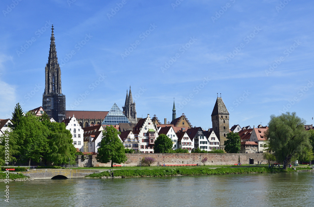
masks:
[[[265,137],[278,162],[287,169],[293,157],[304,157],[311,149],[310,133],[304,129],[305,120],[296,113],[287,112],[279,116],[271,115]]]

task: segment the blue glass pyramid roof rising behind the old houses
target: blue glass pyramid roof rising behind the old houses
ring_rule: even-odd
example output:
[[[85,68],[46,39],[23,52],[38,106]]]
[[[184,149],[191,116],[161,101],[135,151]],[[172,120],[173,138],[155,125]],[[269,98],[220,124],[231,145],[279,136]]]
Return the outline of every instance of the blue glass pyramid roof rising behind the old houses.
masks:
[[[123,114],[123,112],[119,109],[117,104],[113,104],[110,111],[108,112],[105,119],[102,121],[101,124],[105,125],[116,125],[119,123],[131,123],[127,117]]]

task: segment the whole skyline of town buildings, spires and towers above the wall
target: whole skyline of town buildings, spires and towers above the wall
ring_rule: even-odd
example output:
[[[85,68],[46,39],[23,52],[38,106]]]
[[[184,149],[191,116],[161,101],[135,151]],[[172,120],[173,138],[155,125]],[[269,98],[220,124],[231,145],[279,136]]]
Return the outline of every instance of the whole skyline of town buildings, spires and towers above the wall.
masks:
[[[121,132],[119,135],[125,148],[132,148],[143,153],[154,153],[154,142],[160,134],[165,134],[172,140],[172,149],[194,148],[204,150],[224,149],[227,134],[238,132],[241,137],[242,153],[261,153],[265,151],[263,143],[266,141],[264,133],[267,126],[258,125],[257,128],[234,125],[229,129],[229,112],[224,101],[218,97],[211,114],[212,128],[203,130],[192,126],[186,115],[176,116],[175,102],[173,101],[172,119],[161,124],[156,115],[151,119],[137,118],[135,101],[133,101],[131,86],[127,90],[122,111],[116,103],[109,111],[74,111],[65,110],[65,95],[61,91],[61,70],[58,63],[54,28],[51,27],[50,49],[48,62],[45,67],[45,91],[42,107],[30,110],[36,116],[46,112],[51,121],[63,122],[73,137],[73,145],[81,152],[97,153],[102,132],[108,125],[113,125]],[[68,119],[65,119],[68,117]],[[9,131],[10,119],[0,119],[0,134]],[[305,125],[305,129],[313,129],[313,125]]]

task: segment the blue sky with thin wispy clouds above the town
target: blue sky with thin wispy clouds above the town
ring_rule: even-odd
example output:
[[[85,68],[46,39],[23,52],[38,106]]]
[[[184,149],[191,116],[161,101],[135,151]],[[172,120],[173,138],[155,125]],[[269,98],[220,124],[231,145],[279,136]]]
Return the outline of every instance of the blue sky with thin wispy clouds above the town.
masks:
[[[53,24],[67,110],[122,109],[131,85],[137,116],[161,122],[175,98],[177,117],[208,129],[221,93],[230,127],[265,126],[285,111],[313,123],[312,1],[11,0],[0,9],[1,119],[18,102],[42,105]]]

